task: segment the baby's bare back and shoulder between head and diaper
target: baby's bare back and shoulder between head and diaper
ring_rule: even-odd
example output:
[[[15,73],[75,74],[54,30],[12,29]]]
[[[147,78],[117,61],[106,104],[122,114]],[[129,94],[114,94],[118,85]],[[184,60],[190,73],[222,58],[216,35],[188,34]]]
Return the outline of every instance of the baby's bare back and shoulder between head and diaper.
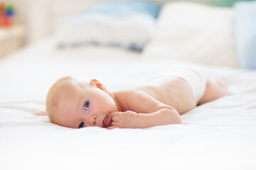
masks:
[[[124,111],[150,113],[154,105],[171,106],[179,114],[196,107],[196,98],[187,81],[178,77],[154,77],[145,84],[116,93]]]

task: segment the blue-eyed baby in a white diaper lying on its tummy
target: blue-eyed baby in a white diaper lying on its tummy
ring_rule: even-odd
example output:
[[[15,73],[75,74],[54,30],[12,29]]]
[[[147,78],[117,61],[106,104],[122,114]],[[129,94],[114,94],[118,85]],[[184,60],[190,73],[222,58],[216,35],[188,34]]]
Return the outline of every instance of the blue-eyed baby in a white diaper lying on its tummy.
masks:
[[[181,114],[228,95],[222,81],[193,69],[171,70],[146,84],[108,91],[102,82],[63,77],[50,87],[46,112],[50,121],[68,128],[149,128],[181,124]]]

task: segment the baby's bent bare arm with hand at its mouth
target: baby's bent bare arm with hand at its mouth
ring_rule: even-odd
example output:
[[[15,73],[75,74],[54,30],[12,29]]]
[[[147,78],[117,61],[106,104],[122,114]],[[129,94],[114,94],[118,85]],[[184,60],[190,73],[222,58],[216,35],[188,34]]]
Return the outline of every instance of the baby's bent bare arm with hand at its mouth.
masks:
[[[135,113],[133,111],[111,113],[114,128],[149,128],[157,125],[181,124],[181,116],[171,106],[159,104],[152,113]]]

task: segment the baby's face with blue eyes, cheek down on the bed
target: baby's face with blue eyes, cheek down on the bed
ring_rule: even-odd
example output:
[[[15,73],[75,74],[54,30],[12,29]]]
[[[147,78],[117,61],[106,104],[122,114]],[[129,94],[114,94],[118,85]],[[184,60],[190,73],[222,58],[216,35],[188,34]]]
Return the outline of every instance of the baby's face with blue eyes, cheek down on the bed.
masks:
[[[112,122],[110,113],[118,111],[114,99],[92,84],[78,82],[59,90],[58,109],[53,123],[68,128],[99,126],[107,128]]]

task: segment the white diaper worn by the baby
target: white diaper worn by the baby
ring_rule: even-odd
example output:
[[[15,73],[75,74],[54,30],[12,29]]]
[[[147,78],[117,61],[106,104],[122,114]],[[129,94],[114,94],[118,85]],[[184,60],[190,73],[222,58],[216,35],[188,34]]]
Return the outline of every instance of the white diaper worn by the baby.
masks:
[[[206,91],[206,82],[207,82],[207,74],[204,72],[198,72],[196,69],[191,68],[172,68],[166,69],[158,76],[173,76],[180,77],[190,84],[193,94],[196,98],[196,101],[200,101],[203,97],[203,94]]]

